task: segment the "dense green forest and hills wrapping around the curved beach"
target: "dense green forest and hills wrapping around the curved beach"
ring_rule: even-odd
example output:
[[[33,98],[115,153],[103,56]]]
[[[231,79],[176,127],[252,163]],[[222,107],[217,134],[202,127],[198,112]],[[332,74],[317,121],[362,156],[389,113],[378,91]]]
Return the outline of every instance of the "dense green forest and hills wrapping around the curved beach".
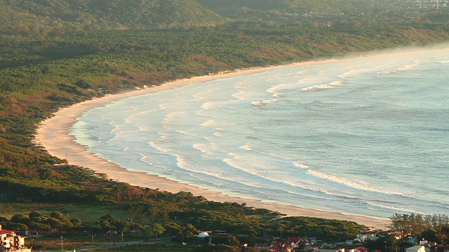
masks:
[[[446,43],[448,20],[443,1],[0,0],[0,225],[48,233],[53,243],[28,241],[48,249],[62,246],[61,232],[88,238],[74,246],[107,233],[122,241],[170,237],[193,244],[172,249],[179,251],[355,237],[366,227],[111,181],[49,155],[34,134],[62,107],[170,80]],[[447,216],[410,213],[391,223],[389,231],[401,239],[386,230],[363,246],[398,251],[413,246],[411,237],[449,245]],[[196,239],[198,230],[227,235],[209,244]]]

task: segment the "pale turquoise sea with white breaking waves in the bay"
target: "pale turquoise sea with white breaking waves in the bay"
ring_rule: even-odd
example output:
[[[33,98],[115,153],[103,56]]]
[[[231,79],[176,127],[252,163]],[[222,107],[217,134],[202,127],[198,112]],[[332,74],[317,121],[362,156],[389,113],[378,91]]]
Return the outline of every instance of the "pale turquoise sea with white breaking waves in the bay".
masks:
[[[122,99],[70,131],[123,168],[225,195],[449,214],[448,80],[449,50],[364,55]]]

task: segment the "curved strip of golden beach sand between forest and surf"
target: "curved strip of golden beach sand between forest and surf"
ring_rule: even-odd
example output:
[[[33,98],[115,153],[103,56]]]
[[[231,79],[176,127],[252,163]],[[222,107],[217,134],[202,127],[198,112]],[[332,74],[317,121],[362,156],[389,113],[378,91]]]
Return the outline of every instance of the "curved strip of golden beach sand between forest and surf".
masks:
[[[196,188],[184,183],[177,183],[168,179],[145,174],[142,172],[130,172],[126,169],[119,167],[118,165],[107,162],[102,158],[98,158],[92,153],[86,151],[86,147],[76,144],[74,137],[69,135],[69,127],[75,122],[76,118],[82,116],[86,111],[94,109],[96,107],[105,106],[119,99],[126,97],[138,96],[141,94],[148,94],[152,92],[159,92],[161,90],[169,90],[182,85],[188,85],[191,83],[205,82],[208,80],[215,80],[217,78],[229,78],[234,76],[243,76],[252,73],[259,73],[271,69],[281,67],[292,67],[306,64],[314,64],[316,62],[305,62],[290,64],[286,66],[272,66],[269,68],[257,68],[234,71],[231,73],[220,73],[210,76],[199,76],[190,79],[177,80],[170,83],[165,83],[156,87],[149,87],[141,90],[135,90],[126,92],[123,94],[113,94],[107,97],[93,99],[87,102],[81,102],[67,108],[60,109],[54,114],[52,118],[44,120],[40,125],[36,133],[36,143],[44,146],[48,153],[61,159],[67,159],[70,165],[77,165],[80,167],[86,167],[94,170],[95,172],[107,174],[108,179],[129,183],[133,186],[142,186],[146,188],[165,190],[171,193],[177,193],[179,191],[188,191],[196,196],[206,197],[207,200],[215,202],[237,202],[239,204],[246,203],[248,207],[255,207],[258,209],[269,209],[272,211],[278,211],[281,214],[287,216],[309,216],[316,218],[328,218],[337,219],[342,221],[354,221],[356,223],[367,225],[369,227],[376,227],[385,229],[391,221],[385,219],[368,218],[364,216],[348,216],[335,212],[317,211],[314,209],[304,209],[300,207],[293,207],[286,204],[276,204],[272,202],[260,202],[253,199],[243,199],[239,197],[229,197],[221,193],[211,192],[209,190]]]

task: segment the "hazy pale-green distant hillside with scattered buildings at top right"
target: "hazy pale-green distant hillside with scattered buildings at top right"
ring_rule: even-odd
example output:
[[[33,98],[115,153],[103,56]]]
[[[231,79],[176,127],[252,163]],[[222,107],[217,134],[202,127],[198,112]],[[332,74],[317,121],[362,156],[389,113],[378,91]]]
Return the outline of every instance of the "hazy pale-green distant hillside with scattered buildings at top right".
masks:
[[[196,0],[233,20],[276,25],[326,22],[420,23],[449,20],[445,1],[408,0]],[[438,2],[438,3],[437,3]]]

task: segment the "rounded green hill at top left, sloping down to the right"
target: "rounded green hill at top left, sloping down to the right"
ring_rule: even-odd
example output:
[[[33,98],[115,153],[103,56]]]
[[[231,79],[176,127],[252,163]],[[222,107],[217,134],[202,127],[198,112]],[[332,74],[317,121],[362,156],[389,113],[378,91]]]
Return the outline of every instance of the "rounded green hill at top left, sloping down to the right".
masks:
[[[198,27],[224,21],[194,0],[0,0],[0,32]]]

